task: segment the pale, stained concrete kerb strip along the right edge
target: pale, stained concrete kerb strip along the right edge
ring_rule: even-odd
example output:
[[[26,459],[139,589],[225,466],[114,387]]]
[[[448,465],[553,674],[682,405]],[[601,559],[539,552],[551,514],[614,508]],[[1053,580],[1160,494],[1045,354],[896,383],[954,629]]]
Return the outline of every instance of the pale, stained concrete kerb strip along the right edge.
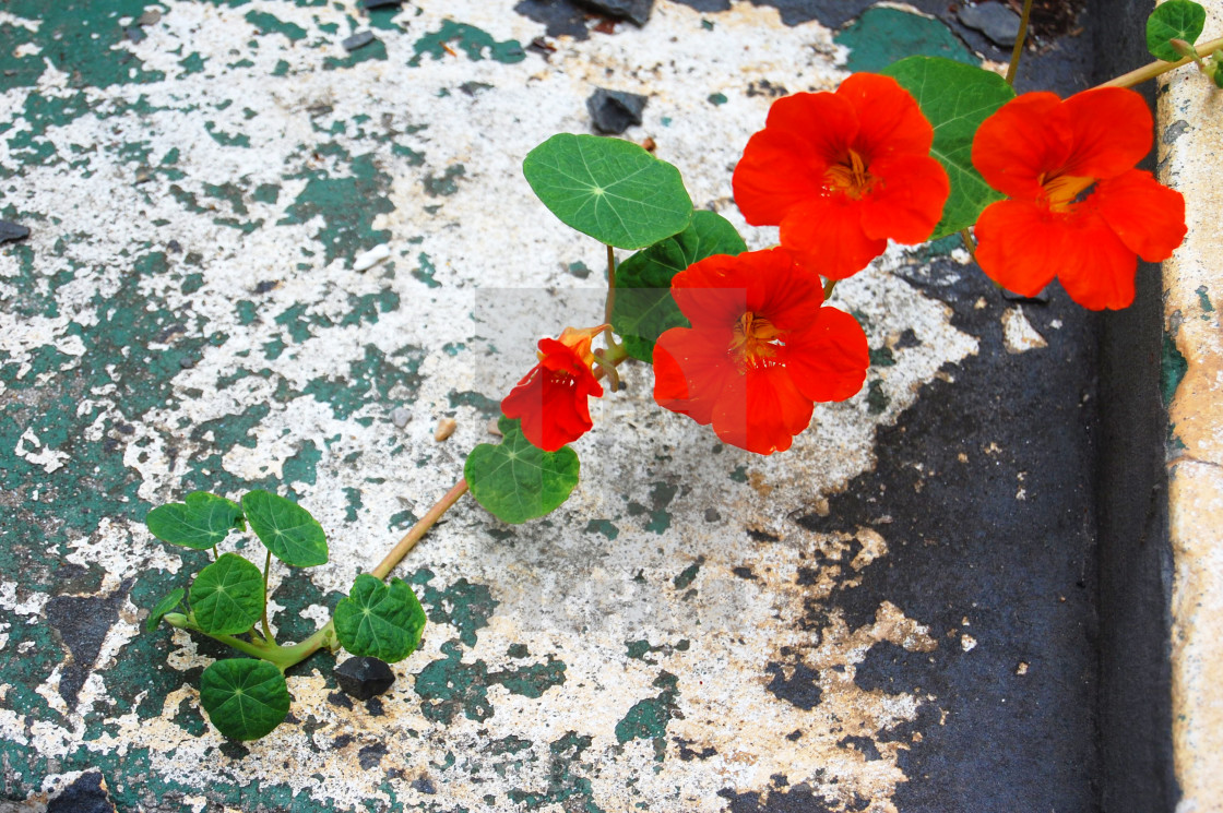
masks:
[[[1223,31],[1223,2],[1203,5],[1206,31]],[[1190,71],[1161,90],[1162,180],[1189,226],[1163,268],[1164,363],[1184,369],[1168,407],[1173,749],[1178,812],[1207,813],[1223,811],[1223,92]]]

